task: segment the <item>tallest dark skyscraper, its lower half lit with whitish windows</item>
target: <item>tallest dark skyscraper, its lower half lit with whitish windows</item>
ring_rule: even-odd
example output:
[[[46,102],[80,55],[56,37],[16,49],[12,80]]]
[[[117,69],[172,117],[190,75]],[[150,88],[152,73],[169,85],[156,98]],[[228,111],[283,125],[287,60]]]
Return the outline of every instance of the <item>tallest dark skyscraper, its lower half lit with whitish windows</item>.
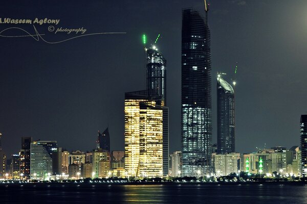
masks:
[[[207,5],[205,8],[205,18],[191,8],[182,13],[183,176],[211,171],[211,46]]]

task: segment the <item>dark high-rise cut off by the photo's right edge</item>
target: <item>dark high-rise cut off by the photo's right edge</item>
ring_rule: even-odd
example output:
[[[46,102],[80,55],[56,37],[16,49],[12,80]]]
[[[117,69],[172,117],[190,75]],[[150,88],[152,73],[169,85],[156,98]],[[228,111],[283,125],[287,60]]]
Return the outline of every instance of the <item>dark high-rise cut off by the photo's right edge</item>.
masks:
[[[300,119],[300,149],[302,174],[307,175],[307,115],[301,115]]]

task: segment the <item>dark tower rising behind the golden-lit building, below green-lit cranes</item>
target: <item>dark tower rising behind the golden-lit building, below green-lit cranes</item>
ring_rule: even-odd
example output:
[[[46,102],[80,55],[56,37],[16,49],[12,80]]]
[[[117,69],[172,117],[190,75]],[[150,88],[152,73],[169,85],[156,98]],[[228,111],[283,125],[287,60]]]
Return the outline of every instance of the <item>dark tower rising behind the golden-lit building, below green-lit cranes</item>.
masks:
[[[166,60],[156,46],[145,48],[147,55],[146,86],[148,93],[166,104]]]

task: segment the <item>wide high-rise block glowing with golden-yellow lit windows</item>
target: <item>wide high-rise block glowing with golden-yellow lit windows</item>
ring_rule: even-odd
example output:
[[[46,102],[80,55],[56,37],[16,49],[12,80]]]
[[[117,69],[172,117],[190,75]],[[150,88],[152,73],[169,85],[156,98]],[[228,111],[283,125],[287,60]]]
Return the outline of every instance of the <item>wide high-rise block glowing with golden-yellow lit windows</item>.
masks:
[[[164,112],[168,113],[168,108],[148,99],[146,91],[125,94],[125,170],[128,176],[163,176],[163,119],[167,115]]]

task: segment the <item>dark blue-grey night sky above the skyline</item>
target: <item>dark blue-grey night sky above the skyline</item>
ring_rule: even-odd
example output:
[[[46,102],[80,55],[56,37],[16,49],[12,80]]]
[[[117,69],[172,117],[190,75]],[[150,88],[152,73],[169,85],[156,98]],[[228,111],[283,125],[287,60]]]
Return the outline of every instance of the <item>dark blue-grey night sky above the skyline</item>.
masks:
[[[43,2],[43,3],[42,3]],[[299,145],[299,119],[307,114],[307,1],[212,0],[213,142],[216,141],[216,71],[238,62],[236,151]],[[181,10],[204,11],[201,0],[6,1],[1,18],[60,19],[57,28],[85,28],[96,35],[58,44],[31,37],[0,37],[0,132],[8,154],[20,138],[56,140],[68,150],[92,150],[97,131],[109,126],[111,148],[124,149],[124,92],[145,88],[147,33],[167,59],[170,152],[181,141]],[[74,34],[51,33],[60,41]],[[19,27],[34,34],[32,25]],[[4,33],[2,33],[4,34]],[[6,34],[25,35],[21,31]]]

